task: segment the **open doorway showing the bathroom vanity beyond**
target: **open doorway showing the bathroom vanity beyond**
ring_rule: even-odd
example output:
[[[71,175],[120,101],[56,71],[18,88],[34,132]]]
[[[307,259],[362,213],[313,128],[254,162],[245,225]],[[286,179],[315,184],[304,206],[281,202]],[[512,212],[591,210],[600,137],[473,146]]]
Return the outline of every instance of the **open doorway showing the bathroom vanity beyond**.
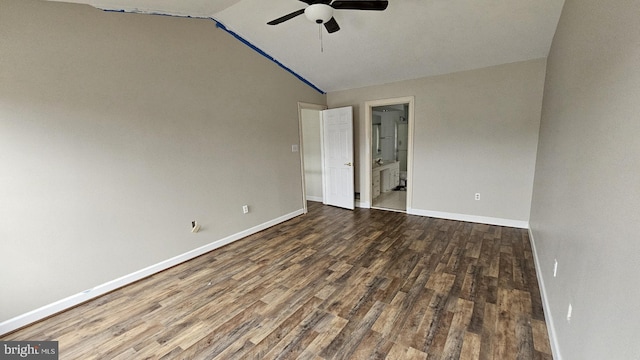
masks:
[[[413,97],[366,102],[367,175],[372,208],[411,208]]]

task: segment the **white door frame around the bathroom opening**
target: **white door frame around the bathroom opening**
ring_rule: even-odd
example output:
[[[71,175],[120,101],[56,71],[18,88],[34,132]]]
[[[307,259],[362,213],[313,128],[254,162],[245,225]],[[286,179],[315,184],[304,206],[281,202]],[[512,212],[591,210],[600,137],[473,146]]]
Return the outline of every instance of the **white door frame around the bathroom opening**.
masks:
[[[371,170],[372,170],[372,160],[371,160],[371,146],[372,146],[372,133],[371,126],[373,123],[373,108],[378,106],[386,106],[386,105],[399,105],[399,104],[409,104],[408,109],[408,143],[407,143],[407,210],[406,213],[410,214],[412,210],[412,199],[413,199],[413,131],[415,126],[415,97],[414,96],[405,96],[398,98],[389,98],[389,99],[380,99],[380,100],[370,100],[365,101],[364,103],[364,111],[365,111],[365,134],[366,134],[366,142],[367,142],[367,151],[365,158],[365,181],[367,184],[367,194],[366,199],[369,203],[369,207],[373,206],[373,184],[371,184]]]

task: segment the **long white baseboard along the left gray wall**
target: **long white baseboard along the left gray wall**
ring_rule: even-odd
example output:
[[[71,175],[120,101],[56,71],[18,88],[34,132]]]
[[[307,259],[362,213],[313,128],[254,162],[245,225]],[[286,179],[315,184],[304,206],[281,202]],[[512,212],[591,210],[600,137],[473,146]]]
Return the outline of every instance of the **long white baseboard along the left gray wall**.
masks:
[[[67,298],[64,298],[62,300],[58,300],[54,303],[45,305],[43,307],[40,307],[38,309],[35,309],[33,311],[30,311],[28,313],[16,316],[14,318],[11,318],[9,320],[3,321],[2,323],[0,323],[0,335],[4,335],[7,334],[9,332],[12,332],[14,330],[17,330],[21,327],[24,327],[26,325],[29,325],[31,323],[34,323],[36,321],[42,320],[46,317],[49,317],[51,315],[54,315],[56,313],[59,313],[61,311],[64,311],[66,309],[69,309],[71,307],[77,306],[83,302],[89,301],[93,298],[96,298],[100,295],[104,295],[110,291],[116,290],[118,288],[121,288],[125,285],[134,283],[138,280],[144,279],[145,277],[148,277],[150,275],[153,275],[155,273],[158,273],[160,271],[166,270],[170,267],[173,267],[175,265],[178,265],[180,263],[183,263],[187,260],[191,260],[195,257],[198,257],[200,255],[206,254],[211,250],[215,250],[219,247],[222,247],[224,245],[230,244],[234,241],[240,240],[244,237],[247,237],[249,235],[255,234],[257,232],[260,232],[262,230],[265,230],[267,228],[270,228],[271,226],[277,225],[279,223],[285,222],[287,220],[290,220],[296,216],[302,215],[303,211],[302,209],[300,210],[296,210],[292,213],[283,215],[281,217],[278,217],[276,219],[267,221],[263,224],[254,226],[250,229],[241,231],[239,233],[227,236],[223,239],[220,240],[216,240],[212,243],[209,243],[207,245],[201,246],[199,248],[193,249],[191,251],[188,251],[184,254],[172,257],[170,259],[164,260],[162,262],[159,262],[155,265],[151,265],[149,267],[146,267],[144,269],[138,270],[136,272],[133,272],[131,274],[122,276],[118,279],[115,280],[111,280],[108,281],[104,284],[98,285],[92,289],[88,289],[85,290],[79,294],[75,294],[75,295],[71,295]]]

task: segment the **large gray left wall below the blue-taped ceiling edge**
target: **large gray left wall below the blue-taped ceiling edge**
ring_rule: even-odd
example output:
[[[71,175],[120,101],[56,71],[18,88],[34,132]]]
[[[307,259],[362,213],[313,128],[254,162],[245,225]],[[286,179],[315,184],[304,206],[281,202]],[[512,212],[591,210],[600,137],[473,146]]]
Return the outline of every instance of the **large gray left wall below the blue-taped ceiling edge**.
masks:
[[[0,322],[302,209],[298,101],[213,21],[0,0]]]

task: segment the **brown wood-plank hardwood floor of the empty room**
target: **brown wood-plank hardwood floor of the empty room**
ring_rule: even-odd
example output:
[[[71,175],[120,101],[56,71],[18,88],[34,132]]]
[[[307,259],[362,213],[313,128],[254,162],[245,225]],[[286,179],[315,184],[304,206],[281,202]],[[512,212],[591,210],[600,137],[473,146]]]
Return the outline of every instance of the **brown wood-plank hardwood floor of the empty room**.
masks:
[[[526,230],[309,213],[1,340],[60,359],[551,359]]]

